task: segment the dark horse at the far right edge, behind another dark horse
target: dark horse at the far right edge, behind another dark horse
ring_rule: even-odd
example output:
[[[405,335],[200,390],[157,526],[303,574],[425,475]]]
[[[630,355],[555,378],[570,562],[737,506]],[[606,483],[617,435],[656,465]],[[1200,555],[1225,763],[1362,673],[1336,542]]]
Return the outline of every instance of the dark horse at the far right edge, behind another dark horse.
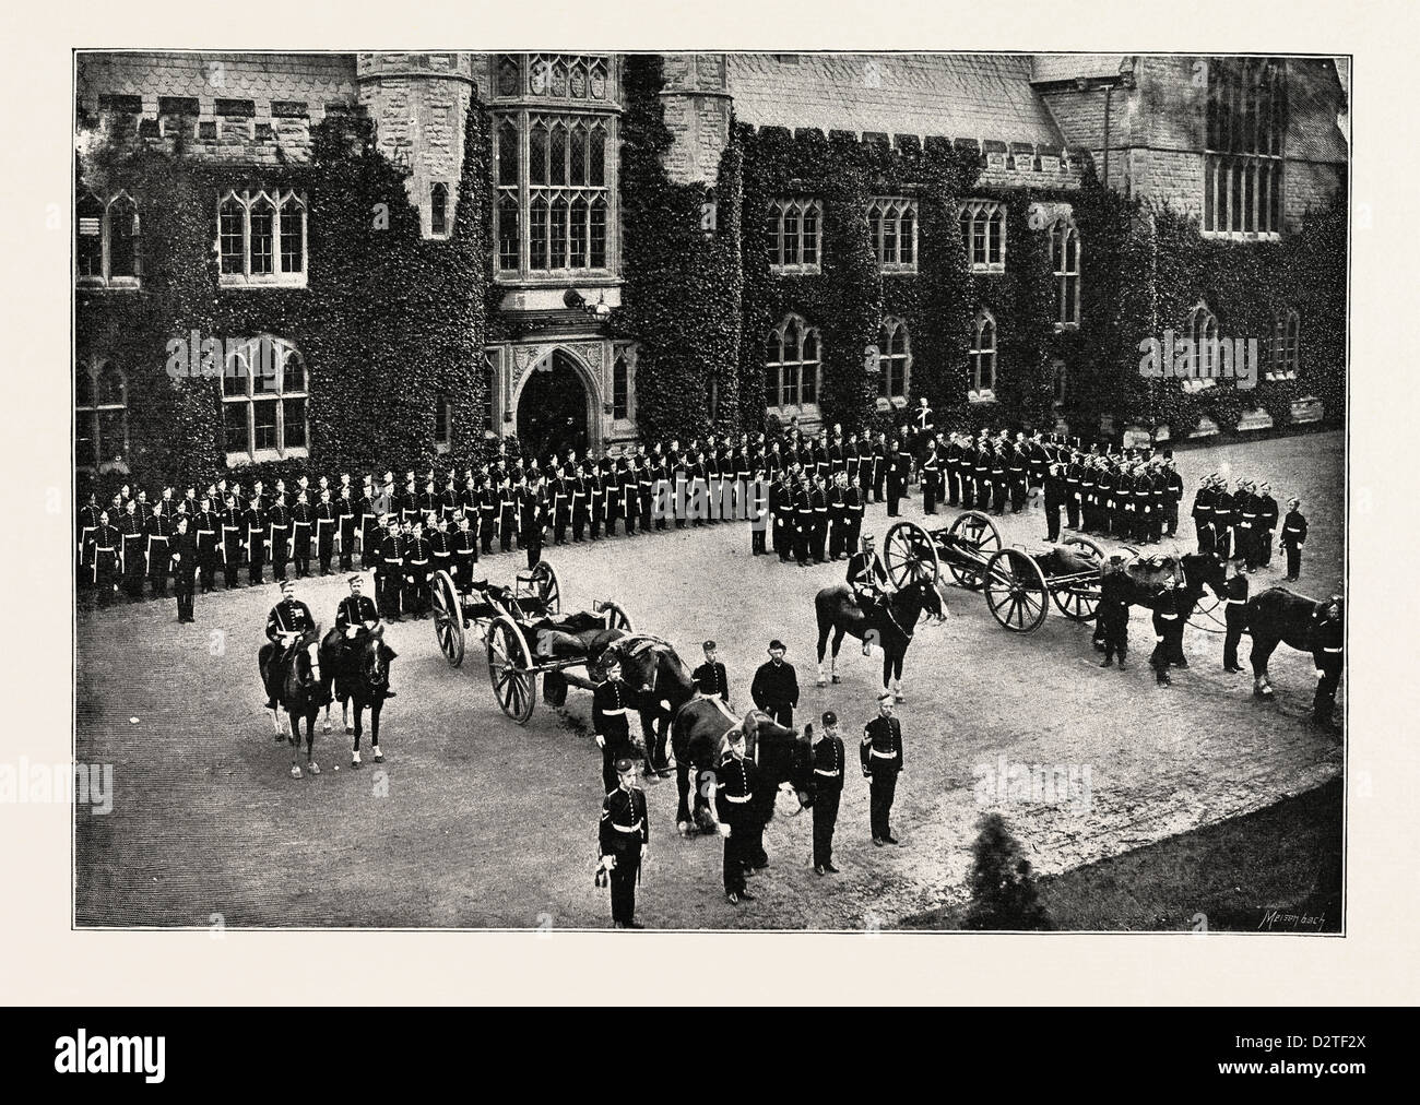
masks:
[[[1277,646],[1285,642],[1294,649],[1312,653],[1316,668],[1312,719],[1319,724],[1331,724],[1336,687],[1340,683],[1346,599],[1332,595],[1325,602],[1318,602],[1285,587],[1272,587],[1248,599],[1244,616],[1247,632],[1252,636],[1252,693],[1260,699],[1272,697],[1267,662]]]

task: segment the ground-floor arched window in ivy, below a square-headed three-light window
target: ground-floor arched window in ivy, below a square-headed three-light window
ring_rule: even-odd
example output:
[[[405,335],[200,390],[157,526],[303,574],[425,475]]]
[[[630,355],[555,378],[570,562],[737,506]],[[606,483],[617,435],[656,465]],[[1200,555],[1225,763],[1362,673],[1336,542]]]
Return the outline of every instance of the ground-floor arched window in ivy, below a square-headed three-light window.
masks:
[[[287,341],[261,335],[227,354],[222,374],[222,426],[227,462],[305,456],[305,361]]]

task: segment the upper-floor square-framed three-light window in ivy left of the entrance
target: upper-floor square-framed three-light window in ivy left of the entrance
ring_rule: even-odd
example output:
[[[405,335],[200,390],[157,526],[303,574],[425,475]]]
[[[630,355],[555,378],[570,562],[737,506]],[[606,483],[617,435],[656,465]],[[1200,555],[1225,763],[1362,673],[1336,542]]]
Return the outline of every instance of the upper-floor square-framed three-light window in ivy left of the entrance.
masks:
[[[229,192],[217,202],[220,283],[305,284],[305,196]]]

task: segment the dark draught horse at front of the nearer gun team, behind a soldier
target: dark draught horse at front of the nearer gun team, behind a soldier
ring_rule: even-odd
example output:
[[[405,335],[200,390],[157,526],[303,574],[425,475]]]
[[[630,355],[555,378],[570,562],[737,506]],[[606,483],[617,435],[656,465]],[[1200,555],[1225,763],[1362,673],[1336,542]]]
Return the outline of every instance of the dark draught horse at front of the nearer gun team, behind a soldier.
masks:
[[[682,835],[694,831],[714,832],[716,768],[728,751],[727,737],[733,730],[744,733],[744,754],[760,770],[760,783],[750,804],[757,829],[748,852],[755,859],[754,866],[765,866],[768,856],[764,854],[764,827],[774,817],[780,787],[787,783],[794,788],[795,814],[812,801],[812,754],[808,740],[798,730],[781,726],[763,710],[750,710],[743,719],[736,719],[719,699],[697,697],[676,713],[670,737],[680,791],[676,827]]]

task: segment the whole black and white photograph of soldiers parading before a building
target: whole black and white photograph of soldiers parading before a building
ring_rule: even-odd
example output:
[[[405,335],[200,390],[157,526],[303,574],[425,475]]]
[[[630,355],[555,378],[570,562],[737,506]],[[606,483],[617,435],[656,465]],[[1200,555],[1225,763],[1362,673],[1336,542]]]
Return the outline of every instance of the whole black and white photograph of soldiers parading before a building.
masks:
[[[72,926],[1343,936],[1352,57],[545,31],[74,50]]]

